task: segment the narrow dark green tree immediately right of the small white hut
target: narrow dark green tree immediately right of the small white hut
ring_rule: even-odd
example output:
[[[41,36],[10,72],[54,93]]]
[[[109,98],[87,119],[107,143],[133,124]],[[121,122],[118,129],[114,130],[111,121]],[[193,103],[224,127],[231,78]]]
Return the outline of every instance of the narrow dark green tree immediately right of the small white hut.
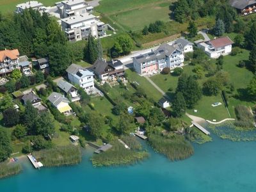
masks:
[[[181,92],[175,93],[175,97],[173,99],[172,104],[173,114],[176,117],[180,117],[186,112],[186,101]]]

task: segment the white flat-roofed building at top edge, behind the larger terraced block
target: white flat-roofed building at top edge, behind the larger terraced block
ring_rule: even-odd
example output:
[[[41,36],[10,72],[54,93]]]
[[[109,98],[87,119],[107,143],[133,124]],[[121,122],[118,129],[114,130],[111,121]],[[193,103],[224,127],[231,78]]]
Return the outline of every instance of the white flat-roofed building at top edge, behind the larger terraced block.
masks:
[[[61,19],[81,15],[93,10],[93,7],[89,7],[84,0],[61,1],[59,4],[57,4],[57,8]]]

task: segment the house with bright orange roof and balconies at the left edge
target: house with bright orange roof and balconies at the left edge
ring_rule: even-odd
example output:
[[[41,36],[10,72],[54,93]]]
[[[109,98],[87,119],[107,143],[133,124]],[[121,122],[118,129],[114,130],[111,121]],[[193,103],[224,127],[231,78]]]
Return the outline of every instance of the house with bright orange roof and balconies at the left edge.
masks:
[[[18,49],[0,51],[0,76],[19,68],[19,55]]]

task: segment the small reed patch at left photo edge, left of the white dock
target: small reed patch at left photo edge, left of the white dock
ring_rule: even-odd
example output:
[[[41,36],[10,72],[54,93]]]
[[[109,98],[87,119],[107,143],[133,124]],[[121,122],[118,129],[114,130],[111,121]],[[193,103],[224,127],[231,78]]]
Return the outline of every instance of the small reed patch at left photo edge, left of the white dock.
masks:
[[[0,179],[17,175],[22,170],[20,164],[17,163],[0,163]]]

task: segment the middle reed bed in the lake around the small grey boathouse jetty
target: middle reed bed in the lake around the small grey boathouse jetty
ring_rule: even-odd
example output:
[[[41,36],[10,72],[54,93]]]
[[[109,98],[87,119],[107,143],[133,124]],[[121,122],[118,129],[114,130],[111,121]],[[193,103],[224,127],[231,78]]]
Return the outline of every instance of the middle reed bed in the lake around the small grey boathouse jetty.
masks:
[[[127,139],[128,140],[128,139]],[[131,144],[131,150],[126,149],[124,145],[119,143],[119,141],[113,141],[113,147],[107,152],[102,152],[100,154],[93,154],[92,164],[93,166],[118,166],[124,164],[134,164],[142,161],[148,157],[148,152],[143,150],[138,150],[141,148],[141,144],[138,141],[130,140],[127,145]]]

